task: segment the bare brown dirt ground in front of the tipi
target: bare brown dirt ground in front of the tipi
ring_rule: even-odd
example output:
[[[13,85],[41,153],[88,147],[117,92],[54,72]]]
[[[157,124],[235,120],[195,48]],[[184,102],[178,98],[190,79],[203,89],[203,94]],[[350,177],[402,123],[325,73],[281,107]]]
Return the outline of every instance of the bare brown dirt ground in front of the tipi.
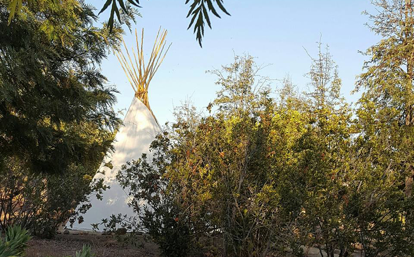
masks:
[[[26,257],[73,257],[84,244],[91,246],[96,257],[159,257],[158,247],[144,237],[142,247],[133,247],[122,246],[113,236],[79,233],[60,234],[53,239],[33,238],[28,243]]]

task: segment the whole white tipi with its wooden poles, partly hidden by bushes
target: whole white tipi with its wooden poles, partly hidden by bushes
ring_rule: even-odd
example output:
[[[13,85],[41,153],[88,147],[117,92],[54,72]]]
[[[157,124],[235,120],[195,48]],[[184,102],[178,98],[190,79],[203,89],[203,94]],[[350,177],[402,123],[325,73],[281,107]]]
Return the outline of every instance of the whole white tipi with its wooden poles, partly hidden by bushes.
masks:
[[[129,83],[134,89],[135,95],[126,112],[123,126],[116,135],[115,151],[107,154],[100,168],[100,171],[105,171],[105,174],[98,172],[95,175],[95,178],[104,178],[105,185],[110,186],[110,189],[103,193],[102,200],[97,200],[96,197],[91,196],[92,207],[86,214],[83,214],[84,221],[81,224],[77,222],[73,224],[75,230],[91,230],[91,224],[100,223],[103,218],[109,218],[111,214],[121,213],[134,216],[127,205],[129,198],[117,183],[116,175],[122,165],[126,164],[127,161],[141,158],[142,153],[146,153],[148,158],[150,157],[149,145],[160,130],[158,121],[149,107],[148,86],[170,48],[169,46],[165,50],[166,36],[167,30],[161,31],[160,28],[147,63],[144,62],[143,53],[144,29],[141,34],[141,45],[135,30],[137,53],[132,49],[134,59],[131,59],[123,40],[126,56],[119,49],[114,51]],[[112,169],[103,165],[109,161],[113,166]],[[69,224],[67,224],[67,227],[69,227]],[[102,227],[99,227],[99,230],[102,230]]]

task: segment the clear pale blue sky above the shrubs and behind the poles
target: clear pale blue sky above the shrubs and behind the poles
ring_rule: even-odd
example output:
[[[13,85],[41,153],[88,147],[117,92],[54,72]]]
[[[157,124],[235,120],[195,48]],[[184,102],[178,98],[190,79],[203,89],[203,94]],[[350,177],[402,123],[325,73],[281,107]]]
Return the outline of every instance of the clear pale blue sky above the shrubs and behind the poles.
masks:
[[[104,3],[90,2],[99,9]],[[350,95],[350,91],[365,60],[358,51],[379,40],[364,25],[368,20],[361,14],[373,10],[369,0],[225,0],[231,16],[211,17],[213,29],[205,30],[203,48],[195,41],[193,31],[187,30],[189,6],[184,2],[142,0],[143,18],[134,25],[139,30],[144,27],[147,48],[152,47],[159,26],[168,29],[168,42],[172,43],[149,86],[149,102],[160,124],[173,121],[173,106],[185,99],[191,98],[196,107],[206,107],[218,87],[214,84],[216,78],[205,71],[231,63],[233,51],[257,57],[258,64],[272,64],[262,75],[282,79],[290,74],[294,84],[306,89],[304,74],[311,62],[303,47],[315,55],[320,35],[339,65],[343,95],[349,102],[357,100],[358,96]],[[108,17],[109,11],[100,15],[102,20]],[[128,32],[125,41],[129,46],[134,44],[133,39]],[[117,59],[110,56],[102,70],[121,92],[116,108],[127,109],[133,90]],[[280,86],[278,82],[274,82],[276,86]]]

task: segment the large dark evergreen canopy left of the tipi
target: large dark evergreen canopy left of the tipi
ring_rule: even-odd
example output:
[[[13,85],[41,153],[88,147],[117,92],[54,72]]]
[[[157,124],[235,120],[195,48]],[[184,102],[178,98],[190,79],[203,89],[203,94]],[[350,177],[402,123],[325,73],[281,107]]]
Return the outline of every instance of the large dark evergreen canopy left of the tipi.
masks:
[[[120,124],[99,64],[122,30],[93,25],[82,1],[38,1],[8,24],[0,5],[0,155],[34,172],[96,167]],[[57,161],[59,160],[59,161]]]

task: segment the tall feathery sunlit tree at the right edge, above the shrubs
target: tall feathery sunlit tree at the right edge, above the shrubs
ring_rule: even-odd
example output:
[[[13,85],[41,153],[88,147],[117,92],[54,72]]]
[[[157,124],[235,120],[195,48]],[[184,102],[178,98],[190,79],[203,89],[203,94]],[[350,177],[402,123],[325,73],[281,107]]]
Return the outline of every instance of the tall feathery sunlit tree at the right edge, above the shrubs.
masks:
[[[366,55],[366,72],[357,88],[364,87],[359,117],[364,133],[384,146],[385,154],[398,154],[392,166],[405,173],[406,194],[413,183],[414,126],[414,6],[412,0],[377,0],[380,12],[369,15],[371,30],[383,39],[371,46]],[[402,158],[402,159],[400,159]],[[387,162],[387,161],[386,161]],[[387,164],[385,164],[387,165]]]

